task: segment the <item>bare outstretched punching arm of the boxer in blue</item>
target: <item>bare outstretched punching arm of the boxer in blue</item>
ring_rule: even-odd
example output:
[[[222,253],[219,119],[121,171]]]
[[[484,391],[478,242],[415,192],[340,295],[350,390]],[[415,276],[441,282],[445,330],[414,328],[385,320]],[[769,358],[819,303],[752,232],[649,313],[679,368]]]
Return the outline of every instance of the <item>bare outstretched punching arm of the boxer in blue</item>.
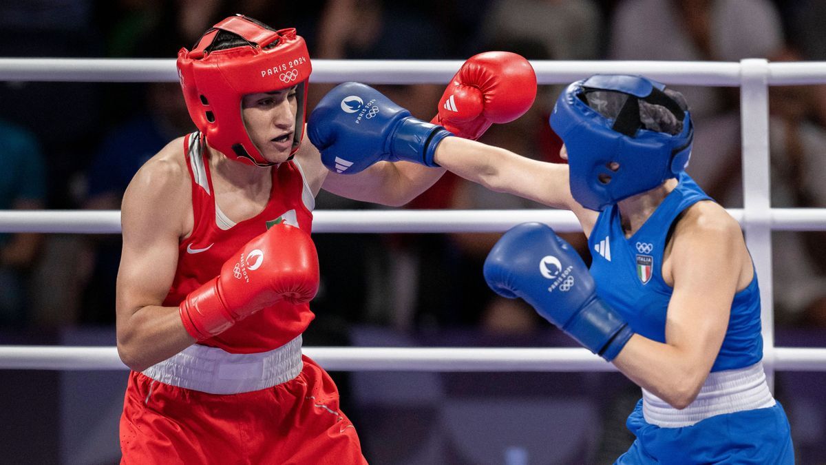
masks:
[[[586,236],[594,228],[598,213],[573,199],[567,165],[532,160],[512,151],[458,137],[444,139],[436,147],[434,160],[454,174],[487,189],[518,195],[554,209],[571,210],[577,215]]]

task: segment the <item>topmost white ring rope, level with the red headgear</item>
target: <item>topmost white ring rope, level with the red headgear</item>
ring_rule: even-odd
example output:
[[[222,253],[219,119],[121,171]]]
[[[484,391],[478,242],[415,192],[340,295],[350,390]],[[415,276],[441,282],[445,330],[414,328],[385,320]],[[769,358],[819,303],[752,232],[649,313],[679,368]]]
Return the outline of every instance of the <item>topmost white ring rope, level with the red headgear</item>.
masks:
[[[338,84],[443,84],[461,60],[313,60],[311,82]],[[721,61],[532,60],[539,84],[567,84],[595,73],[646,74],[667,84],[740,84],[741,65]],[[826,62],[769,63],[767,84],[826,82]],[[174,82],[172,59],[0,58],[0,81]]]

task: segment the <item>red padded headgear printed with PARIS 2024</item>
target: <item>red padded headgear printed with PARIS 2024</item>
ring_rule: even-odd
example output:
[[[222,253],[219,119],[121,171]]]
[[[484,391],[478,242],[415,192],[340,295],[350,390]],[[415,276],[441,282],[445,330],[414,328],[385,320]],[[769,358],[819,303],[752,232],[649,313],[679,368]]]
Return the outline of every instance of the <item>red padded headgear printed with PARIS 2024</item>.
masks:
[[[249,45],[208,50],[218,31],[241,36]],[[307,80],[312,71],[304,39],[295,29],[273,31],[247,17],[228,17],[207,31],[192,51],[178,51],[178,77],[192,122],[207,142],[230,159],[250,165],[274,163],[249,139],[241,99],[297,86],[298,110],[290,157],[304,137]]]

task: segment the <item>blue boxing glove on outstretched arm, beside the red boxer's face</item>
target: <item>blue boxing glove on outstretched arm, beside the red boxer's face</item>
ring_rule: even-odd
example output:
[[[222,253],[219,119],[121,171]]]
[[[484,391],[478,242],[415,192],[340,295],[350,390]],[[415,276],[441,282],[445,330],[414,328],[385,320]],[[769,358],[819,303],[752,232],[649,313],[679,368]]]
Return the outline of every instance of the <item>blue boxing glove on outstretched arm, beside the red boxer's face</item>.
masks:
[[[328,170],[352,175],[377,161],[439,166],[433,161],[436,146],[453,134],[411,117],[368,85],[344,83],[321,98],[307,122],[307,136]]]

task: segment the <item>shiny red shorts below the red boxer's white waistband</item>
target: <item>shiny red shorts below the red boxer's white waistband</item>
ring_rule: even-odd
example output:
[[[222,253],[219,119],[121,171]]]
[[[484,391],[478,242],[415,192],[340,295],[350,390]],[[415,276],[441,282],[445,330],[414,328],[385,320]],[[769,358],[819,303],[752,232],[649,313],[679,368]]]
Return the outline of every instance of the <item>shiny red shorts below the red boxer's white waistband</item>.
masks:
[[[131,372],[121,415],[121,463],[367,463],[339,391],[302,357],[292,381],[207,394]]]

